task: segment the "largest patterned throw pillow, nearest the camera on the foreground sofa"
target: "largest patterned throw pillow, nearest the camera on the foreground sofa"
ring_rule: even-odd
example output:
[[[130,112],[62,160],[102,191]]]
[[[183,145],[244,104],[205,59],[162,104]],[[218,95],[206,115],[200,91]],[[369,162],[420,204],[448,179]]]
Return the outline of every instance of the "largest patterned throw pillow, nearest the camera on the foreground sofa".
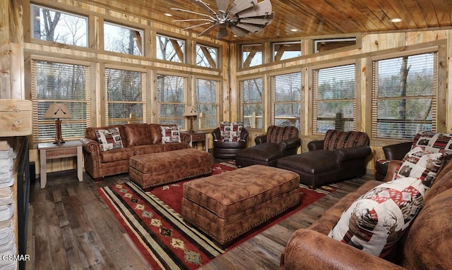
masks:
[[[417,178],[383,183],[355,200],[328,236],[386,257],[422,209],[424,194]]]

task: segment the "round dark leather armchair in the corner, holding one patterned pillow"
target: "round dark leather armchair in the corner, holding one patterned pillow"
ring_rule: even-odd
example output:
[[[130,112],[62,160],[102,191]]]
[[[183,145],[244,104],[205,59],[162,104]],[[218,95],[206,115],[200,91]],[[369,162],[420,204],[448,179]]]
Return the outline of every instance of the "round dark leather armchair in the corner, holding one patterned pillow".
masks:
[[[213,157],[218,159],[234,159],[235,154],[246,148],[246,138],[248,138],[248,131],[242,128],[239,140],[237,141],[222,141],[220,135],[220,128],[215,128],[212,131],[213,137]]]

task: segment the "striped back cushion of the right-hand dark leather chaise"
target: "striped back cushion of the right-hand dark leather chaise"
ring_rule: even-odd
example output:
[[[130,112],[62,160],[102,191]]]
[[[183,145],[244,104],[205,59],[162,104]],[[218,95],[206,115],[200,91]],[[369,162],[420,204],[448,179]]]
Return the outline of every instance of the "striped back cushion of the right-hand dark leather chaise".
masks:
[[[369,136],[359,131],[328,130],[325,134],[325,140],[323,140],[323,149],[330,151],[368,145]]]

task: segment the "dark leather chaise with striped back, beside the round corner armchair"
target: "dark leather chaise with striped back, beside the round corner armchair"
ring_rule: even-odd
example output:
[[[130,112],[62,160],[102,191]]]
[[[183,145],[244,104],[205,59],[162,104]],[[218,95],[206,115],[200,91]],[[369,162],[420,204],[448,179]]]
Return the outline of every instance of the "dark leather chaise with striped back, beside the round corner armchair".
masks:
[[[298,128],[294,126],[270,125],[266,135],[257,136],[254,141],[256,145],[235,154],[237,167],[255,164],[275,167],[281,157],[297,154],[301,145]]]

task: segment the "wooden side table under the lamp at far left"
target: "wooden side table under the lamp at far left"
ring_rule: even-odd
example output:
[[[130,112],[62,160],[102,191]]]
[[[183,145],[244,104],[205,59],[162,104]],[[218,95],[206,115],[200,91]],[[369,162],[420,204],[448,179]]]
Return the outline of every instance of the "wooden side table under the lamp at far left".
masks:
[[[83,181],[82,165],[82,143],[78,141],[68,141],[61,144],[53,142],[43,142],[37,145],[40,151],[40,182],[41,188],[47,184],[47,159],[61,159],[64,157],[77,157],[77,178]]]

